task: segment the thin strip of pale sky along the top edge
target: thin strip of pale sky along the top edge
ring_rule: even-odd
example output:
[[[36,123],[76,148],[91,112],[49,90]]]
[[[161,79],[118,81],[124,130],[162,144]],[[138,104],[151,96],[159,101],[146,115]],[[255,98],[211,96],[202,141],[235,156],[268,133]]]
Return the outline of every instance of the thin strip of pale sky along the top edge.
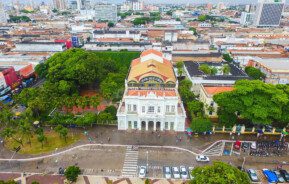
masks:
[[[11,2],[12,0],[0,0],[2,3],[8,3]],[[29,0],[19,0],[19,2],[21,3],[25,3]],[[36,3],[40,3],[42,1],[47,2],[47,3],[52,3],[53,0],[32,0]],[[68,0],[70,1],[70,0]],[[94,2],[103,2],[103,0],[91,0]],[[125,0],[106,0],[105,2],[109,2],[109,3],[122,3]],[[230,4],[238,4],[238,3],[242,3],[242,4],[252,4],[252,3],[256,3],[257,0],[144,0],[144,2],[146,3],[190,3],[190,4],[199,4],[199,3],[218,3],[218,2],[224,2],[224,3],[230,3]]]

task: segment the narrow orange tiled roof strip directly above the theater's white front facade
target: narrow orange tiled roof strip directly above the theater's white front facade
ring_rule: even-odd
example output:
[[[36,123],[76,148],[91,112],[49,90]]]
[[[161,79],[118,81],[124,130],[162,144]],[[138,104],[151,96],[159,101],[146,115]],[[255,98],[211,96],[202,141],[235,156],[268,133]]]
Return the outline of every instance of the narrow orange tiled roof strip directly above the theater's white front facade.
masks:
[[[175,91],[171,90],[128,90],[128,96],[147,96],[149,93],[154,93],[156,96],[177,96]]]

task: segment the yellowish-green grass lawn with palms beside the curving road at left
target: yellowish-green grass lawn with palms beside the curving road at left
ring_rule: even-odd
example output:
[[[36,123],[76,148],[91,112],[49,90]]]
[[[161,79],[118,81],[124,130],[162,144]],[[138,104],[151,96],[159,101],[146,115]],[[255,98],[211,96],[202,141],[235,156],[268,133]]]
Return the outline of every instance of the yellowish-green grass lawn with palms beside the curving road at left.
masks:
[[[46,131],[44,134],[47,137],[47,142],[43,143],[43,148],[41,147],[41,143],[38,142],[37,140],[37,135],[33,135],[33,137],[31,137],[31,146],[30,144],[27,143],[28,142],[27,139],[23,140],[24,146],[21,146],[18,142],[10,138],[5,141],[5,147],[7,147],[10,150],[13,150],[13,148],[21,146],[21,150],[19,151],[20,154],[37,155],[41,153],[54,151],[55,148],[63,148],[69,146],[79,141],[80,139],[84,138],[84,135],[80,133],[69,132],[65,142],[65,140],[63,138],[60,138],[59,134],[56,133],[55,131]],[[15,136],[15,138],[16,137],[17,135]]]

